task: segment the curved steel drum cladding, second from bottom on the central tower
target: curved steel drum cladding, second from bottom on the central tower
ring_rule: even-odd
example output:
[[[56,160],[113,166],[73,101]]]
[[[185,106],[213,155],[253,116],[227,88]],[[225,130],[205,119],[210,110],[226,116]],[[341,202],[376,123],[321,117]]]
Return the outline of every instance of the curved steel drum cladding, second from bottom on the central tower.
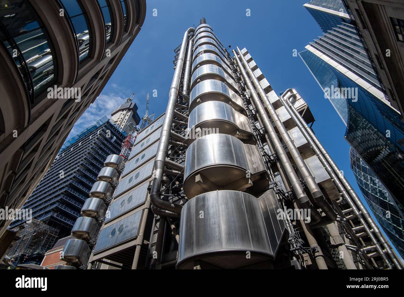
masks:
[[[217,164],[229,164],[249,170],[244,143],[227,134],[210,134],[196,139],[189,145],[185,156],[185,175]]]

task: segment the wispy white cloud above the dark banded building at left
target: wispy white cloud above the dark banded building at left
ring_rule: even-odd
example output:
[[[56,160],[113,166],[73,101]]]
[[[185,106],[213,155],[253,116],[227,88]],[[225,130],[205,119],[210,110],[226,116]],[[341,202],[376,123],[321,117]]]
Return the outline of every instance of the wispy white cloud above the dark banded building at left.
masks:
[[[95,99],[94,103],[92,103],[84,114],[82,114],[82,116],[78,119],[76,124],[74,124],[73,129],[67,139],[77,135],[88,126],[91,126],[97,122],[97,120],[103,116],[110,118],[114,109],[124,103],[125,100],[126,98],[116,95],[99,95],[97,99]]]

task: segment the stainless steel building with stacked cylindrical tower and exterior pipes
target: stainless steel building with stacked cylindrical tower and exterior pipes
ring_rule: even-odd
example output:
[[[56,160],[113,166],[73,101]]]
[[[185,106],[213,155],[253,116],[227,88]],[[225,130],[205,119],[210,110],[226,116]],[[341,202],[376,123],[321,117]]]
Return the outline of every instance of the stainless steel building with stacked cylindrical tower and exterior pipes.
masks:
[[[58,269],[401,269],[295,89],[204,18],[175,50],[166,112],[107,157]]]

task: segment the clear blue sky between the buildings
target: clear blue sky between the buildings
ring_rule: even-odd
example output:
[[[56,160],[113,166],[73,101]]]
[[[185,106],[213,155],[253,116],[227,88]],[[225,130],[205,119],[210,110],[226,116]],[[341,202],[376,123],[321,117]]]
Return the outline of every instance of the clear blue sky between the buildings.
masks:
[[[313,129],[351,185],[362,198],[349,163],[345,125],[299,56],[305,46],[322,35],[320,27],[303,7],[302,0],[147,0],[143,27],[110,78],[101,95],[74,126],[69,137],[93,124],[126,97],[135,93],[139,115],[162,114],[173,78],[174,49],[188,27],[201,17],[213,28],[223,45],[246,47],[276,93],[295,88],[316,118]],[[156,9],[157,16],[153,16]],[[246,10],[250,9],[250,16]],[[363,200],[363,199],[362,199]]]

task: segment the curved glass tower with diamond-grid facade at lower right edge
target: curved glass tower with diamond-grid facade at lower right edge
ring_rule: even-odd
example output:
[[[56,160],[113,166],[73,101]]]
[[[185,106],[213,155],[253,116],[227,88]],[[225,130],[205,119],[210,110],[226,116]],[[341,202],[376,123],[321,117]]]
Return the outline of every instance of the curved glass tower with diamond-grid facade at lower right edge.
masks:
[[[349,150],[349,157],[351,169],[366,202],[400,255],[404,257],[403,209],[396,204],[381,181],[352,148]]]

